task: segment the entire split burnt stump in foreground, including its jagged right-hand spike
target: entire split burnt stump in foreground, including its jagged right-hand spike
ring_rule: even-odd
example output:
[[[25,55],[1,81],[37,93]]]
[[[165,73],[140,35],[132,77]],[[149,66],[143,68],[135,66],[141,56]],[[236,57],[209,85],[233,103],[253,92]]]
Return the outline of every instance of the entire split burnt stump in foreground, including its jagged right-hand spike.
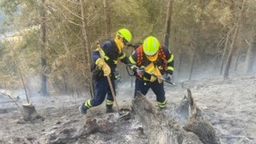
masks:
[[[187,91],[190,92],[190,90]],[[187,100],[183,100],[176,111],[173,110],[173,114],[180,117],[178,120],[183,119],[183,123],[178,123],[176,118],[167,117],[154,107],[145,95],[137,92],[135,100],[132,101],[132,108],[135,111],[135,116],[140,118],[140,122],[145,128],[149,144],[220,143],[220,139],[216,137],[216,132],[209,123],[206,124],[206,127],[204,124],[196,123],[197,119],[200,119],[200,123],[205,123],[205,121],[201,118],[201,110],[192,100],[191,92],[188,95]],[[183,128],[184,126],[186,128]],[[205,128],[200,128],[201,126]],[[207,128],[210,130],[207,131]]]

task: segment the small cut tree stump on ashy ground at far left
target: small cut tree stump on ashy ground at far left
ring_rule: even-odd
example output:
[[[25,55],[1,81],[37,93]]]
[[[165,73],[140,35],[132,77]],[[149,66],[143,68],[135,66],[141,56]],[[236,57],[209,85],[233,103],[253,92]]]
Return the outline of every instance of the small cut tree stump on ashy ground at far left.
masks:
[[[26,103],[22,105],[23,107],[23,119],[25,121],[41,118],[39,114],[36,112],[36,108],[34,105],[30,103]]]

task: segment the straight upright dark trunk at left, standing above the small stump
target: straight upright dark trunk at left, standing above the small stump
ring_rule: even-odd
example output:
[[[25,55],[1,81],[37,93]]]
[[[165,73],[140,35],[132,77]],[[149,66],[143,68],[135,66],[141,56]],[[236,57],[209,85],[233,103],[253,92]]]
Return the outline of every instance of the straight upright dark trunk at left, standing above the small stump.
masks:
[[[41,12],[40,12],[40,30],[41,30],[41,43],[40,43],[40,52],[41,52],[41,87],[40,92],[41,95],[47,95],[47,84],[46,84],[46,76],[45,76],[45,70],[46,70],[46,51],[45,51],[45,45],[46,45],[46,11],[45,11],[45,0],[41,0]]]

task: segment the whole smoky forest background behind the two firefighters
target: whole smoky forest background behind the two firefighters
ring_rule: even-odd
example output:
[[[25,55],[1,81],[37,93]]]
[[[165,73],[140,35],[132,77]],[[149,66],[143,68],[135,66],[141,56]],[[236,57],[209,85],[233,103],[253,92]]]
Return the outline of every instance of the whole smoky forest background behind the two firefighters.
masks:
[[[133,44],[154,35],[168,46],[175,81],[256,72],[255,0],[1,0],[0,10],[2,89],[92,90],[97,41],[124,27]],[[126,65],[118,70],[132,85]]]

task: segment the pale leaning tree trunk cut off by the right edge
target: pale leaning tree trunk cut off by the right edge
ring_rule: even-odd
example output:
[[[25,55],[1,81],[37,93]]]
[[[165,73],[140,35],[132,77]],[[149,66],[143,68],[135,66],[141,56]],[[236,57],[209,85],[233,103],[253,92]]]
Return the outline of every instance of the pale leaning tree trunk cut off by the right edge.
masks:
[[[254,30],[253,30],[254,31]],[[245,73],[255,72],[256,71],[256,35],[255,31],[250,40],[249,49],[246,55],[245,60]]]

